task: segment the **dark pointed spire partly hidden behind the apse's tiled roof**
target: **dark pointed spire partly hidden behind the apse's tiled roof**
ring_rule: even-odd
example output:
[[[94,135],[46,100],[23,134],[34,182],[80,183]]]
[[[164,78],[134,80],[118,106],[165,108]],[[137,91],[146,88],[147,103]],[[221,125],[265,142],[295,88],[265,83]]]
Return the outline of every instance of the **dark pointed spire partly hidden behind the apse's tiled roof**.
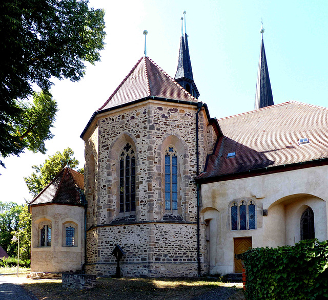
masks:
[[[188,35],[186,32],[186,11],[183,11],[183,14],[185,15],[185,34],[183,34],[183,17],[181,17],[180,50],[178,67],[174,80],[178,82],[192,96],[198,99],[199,92],[194,82],[193,70],[191,68],[191,61],[189,56]]]

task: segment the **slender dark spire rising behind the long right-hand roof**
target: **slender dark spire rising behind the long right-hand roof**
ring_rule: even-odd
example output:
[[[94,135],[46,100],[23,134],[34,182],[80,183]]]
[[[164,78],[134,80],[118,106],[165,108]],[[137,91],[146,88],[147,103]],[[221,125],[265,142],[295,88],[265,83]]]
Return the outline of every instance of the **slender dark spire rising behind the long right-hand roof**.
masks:
[[[271,90],[271,84],[269,78],[269,70],[267,65],[267,57],[265,56],[265,50],[264,50],[263,32],[264,29],[262,23],[262,28],[260,31],[262,35],[262,43],[261,43],[260,59],[258,62],[254,110],[258,110],[273,105],[273,97],[272,97],[272,90]]]

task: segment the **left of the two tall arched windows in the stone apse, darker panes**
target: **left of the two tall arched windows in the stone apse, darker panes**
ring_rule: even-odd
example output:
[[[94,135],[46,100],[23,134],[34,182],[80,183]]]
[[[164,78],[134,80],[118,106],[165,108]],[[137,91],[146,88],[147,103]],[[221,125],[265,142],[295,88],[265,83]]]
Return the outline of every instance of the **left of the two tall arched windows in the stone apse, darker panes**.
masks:
[[[119,155],[119,212],[135,211],[135,150],[129,143]]]

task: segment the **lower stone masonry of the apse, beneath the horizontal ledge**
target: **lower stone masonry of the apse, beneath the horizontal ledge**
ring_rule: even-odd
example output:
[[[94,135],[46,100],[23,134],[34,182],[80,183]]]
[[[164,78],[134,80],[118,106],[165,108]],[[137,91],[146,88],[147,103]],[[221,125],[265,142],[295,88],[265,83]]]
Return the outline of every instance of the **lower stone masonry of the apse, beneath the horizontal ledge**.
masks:
[[[202,225],[203,226],[203,225]],[[196,224],[146,223],[106,226],[100,230],[97,262],[87,262],[87,272],[97,276],[115,274],[111,255],[119,244],[125,255],[120,261],[123,276],[197,276]],[[94,230],[89,231],[92,235]],[[204,231],[201,231],[204,233]],[[203,235],[203,234],[202,234]],[[203,237],[202,237],[203,239]],[[91,245],[87,252],[92,251]],[[201,247],[202,272],[207,271]]]

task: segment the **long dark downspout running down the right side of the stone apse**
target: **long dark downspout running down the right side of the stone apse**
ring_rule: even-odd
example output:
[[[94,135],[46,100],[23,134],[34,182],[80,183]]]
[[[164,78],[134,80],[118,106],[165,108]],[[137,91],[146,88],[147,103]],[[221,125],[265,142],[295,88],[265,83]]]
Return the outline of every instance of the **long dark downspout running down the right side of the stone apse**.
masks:
[[[197,102],[198,111],[196,113],[196,177],[199,175],[199,143],[198,143],[198,114],[201,110],[202,103]],[[198,277],[200,277],[200,220],[199,220],[199,185],[197,186],[197,262],[198,262]]]

